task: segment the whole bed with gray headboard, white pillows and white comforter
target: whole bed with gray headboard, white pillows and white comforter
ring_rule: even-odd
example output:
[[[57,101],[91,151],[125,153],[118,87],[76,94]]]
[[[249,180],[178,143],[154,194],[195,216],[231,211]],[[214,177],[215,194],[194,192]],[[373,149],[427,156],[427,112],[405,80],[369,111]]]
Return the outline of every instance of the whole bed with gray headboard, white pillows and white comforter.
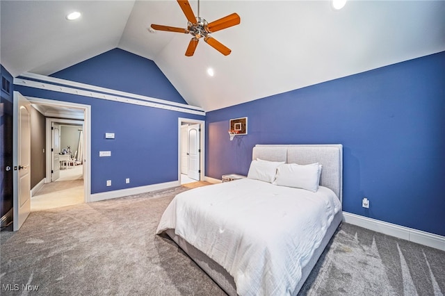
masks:
[[[342,172],[342,145],[256,145],[248,178],[182,192],[156,233],[228,295],[297,295],[341,223]]]

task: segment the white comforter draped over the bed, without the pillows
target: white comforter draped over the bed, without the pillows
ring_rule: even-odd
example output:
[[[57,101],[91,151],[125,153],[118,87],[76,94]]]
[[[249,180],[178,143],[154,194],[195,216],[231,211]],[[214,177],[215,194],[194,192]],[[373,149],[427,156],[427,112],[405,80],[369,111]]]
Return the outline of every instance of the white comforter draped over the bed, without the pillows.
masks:
[[[188,190],[156,233],[175,233],[234,277],[238,295],[290,295],[341,204],[317,192],[241,179]]]

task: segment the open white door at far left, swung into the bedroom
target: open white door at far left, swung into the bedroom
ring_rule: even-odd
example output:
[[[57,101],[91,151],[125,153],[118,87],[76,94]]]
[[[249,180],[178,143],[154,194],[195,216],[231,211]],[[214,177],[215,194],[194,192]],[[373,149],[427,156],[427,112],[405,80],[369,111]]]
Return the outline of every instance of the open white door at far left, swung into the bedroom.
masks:
[[[31,212],[31,104],[14,92],[14,231],[19,230]]]

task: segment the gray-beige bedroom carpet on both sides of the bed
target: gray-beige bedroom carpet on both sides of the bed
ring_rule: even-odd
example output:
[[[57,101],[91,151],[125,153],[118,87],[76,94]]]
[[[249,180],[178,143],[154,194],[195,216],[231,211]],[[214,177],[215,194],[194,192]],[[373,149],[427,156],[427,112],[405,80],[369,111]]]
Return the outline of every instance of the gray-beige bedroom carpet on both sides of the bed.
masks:
[[[190,187],[31,213],[20,231],[1,231],[0,294],[225,295],[154,234],[170,200]],[[444,291],[445,252],[342,224],[300,295]]]

